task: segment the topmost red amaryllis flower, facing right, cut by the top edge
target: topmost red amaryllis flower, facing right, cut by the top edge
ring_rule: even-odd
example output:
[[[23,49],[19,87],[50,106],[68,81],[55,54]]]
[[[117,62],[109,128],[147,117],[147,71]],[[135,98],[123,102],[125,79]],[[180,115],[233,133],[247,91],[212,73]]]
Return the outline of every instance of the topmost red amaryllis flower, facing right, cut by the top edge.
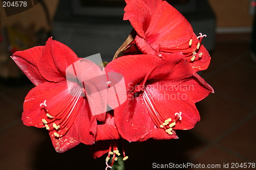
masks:
[[[135,43],[143,54],[160,57],[182,52],[195,72],[208,67],[210,56],[201,45],[205,35],[197,37],[174,7],[162,0],[131,0],[126,4],[123,19],[130,20],[137,32],[130,46]]]

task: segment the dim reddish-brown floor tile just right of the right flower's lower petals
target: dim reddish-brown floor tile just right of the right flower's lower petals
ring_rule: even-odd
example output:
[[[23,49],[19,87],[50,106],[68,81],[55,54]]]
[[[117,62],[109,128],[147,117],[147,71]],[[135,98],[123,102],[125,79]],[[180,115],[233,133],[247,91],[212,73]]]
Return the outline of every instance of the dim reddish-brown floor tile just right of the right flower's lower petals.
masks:
[[[199,102],[198,109],[201,120],[195,126],[194,133],[208,141],[214,141],[253,111],[248,106],[218,93],[210,94]]]

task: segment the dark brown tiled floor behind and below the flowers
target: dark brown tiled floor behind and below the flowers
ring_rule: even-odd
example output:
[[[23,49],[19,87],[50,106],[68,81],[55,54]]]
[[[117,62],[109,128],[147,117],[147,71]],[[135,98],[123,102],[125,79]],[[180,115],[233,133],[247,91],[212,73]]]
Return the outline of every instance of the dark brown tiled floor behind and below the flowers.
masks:
[[[202,72],[215,94],[198,103],[201,121],[193,130],[178,131],[180,139],[125,143],[126,169],[153,169],[154,162],[221,165],[208,169],[256,163],[256,63],[249,40],[249,34],[217,36],[211,65]],[[46,130],[22,124],[23,100],[33,85],[19,83],[0,84],[0,169],[104,169],[105,157],[92,159],[86,145],[58,154]]]

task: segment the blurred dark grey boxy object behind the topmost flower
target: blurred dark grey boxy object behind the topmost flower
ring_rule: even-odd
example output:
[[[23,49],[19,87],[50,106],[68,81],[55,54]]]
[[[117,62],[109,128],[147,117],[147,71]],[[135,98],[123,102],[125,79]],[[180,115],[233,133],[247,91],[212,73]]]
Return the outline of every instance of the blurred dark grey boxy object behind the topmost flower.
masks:
[[[132,26],[129,21],[123,21],[125,4],[116,7],[110,3],[102,7],[100,3],[107,2],[97,2],[99,6],[86,1],[61,0],[54,18],[53,38],[69,46],[78,57],[100,53],[102,60],[109,62],[132,31]],[[207,50],[214,50],[216,17],[209,3],[206,0],[177,0],[174,5],[183,11],[197,35],[207,35],[203,40]]]

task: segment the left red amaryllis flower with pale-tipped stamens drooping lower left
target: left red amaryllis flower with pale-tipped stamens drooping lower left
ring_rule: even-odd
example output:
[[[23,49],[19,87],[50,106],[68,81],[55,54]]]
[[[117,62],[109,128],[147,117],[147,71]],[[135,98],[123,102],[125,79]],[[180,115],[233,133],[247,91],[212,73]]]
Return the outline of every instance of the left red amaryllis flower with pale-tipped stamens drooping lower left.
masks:
[[[49,38],[45,46],[16,52],[12,59],[36,85],[25,98],[23,123],[46,128],[57,152],[65,152],[80,142],[93,144],[97,119],[92,115],[87,99],[81,95],[84,88],[77,83],[68,86],[66,80],[66,68],[79,60],[76,54],[66,45]],[[83,60],[83,63],[93,69],[78,79],[101,74],[96,64],[89,60]],[[98,120],[103,119],[104,114],[98,115]],[[103,133],[101,131],[98,137]]]

